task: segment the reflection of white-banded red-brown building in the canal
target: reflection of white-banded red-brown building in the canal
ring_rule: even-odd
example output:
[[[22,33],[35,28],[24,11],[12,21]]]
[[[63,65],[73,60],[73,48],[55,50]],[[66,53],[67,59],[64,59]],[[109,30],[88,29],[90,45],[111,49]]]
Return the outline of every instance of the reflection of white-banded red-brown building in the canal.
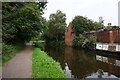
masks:
[[[96,55],[96,64],[97,67],[109,72],[110,74],[114,74],[118,77],[120,77],[120,64],[119,60],[108,58],[104,56]]]

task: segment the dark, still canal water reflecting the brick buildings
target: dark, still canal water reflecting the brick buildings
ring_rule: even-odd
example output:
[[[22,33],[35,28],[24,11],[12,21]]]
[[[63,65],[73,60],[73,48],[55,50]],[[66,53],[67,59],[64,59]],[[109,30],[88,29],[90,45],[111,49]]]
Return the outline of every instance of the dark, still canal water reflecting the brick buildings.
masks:
[[[67,78],[120,78],[120,55],[81,48],[51,48],[45,51],[60,63]]]

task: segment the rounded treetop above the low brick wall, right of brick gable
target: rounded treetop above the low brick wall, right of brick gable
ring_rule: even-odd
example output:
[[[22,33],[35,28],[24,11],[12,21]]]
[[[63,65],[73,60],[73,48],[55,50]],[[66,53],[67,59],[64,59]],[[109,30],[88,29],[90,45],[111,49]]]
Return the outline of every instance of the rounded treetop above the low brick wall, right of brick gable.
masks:
[[[85,32],[90,32],[92,30],[99,30],[104,27],[101,22],[94,22],[83,16],[75,16],[72,24],[76,36],[79,36],[79,34],[84,34]]]

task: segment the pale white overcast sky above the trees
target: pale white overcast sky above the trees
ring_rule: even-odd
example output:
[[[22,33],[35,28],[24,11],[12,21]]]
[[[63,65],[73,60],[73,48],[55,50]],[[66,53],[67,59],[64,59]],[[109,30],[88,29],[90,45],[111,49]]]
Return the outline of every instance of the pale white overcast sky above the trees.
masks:
[[[51,13],[61,10],[66,13],[67,24],[76,15],[86,16],[89,19],[98,21],[100,16],[107,23],[118,25],[118,1],[120,0],[47,0],[47,10],[43,15],[49,19]]]

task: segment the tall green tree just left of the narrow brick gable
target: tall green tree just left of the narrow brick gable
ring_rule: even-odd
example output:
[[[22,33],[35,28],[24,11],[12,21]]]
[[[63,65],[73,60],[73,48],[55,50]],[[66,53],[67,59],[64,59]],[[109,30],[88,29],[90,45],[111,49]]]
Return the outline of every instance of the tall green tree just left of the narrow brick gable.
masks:
[[[64,32],[66,27],[66,15],[58,10],[56,13],[50,14],[48,28],[44,34],[47,41],[64,40]]]

